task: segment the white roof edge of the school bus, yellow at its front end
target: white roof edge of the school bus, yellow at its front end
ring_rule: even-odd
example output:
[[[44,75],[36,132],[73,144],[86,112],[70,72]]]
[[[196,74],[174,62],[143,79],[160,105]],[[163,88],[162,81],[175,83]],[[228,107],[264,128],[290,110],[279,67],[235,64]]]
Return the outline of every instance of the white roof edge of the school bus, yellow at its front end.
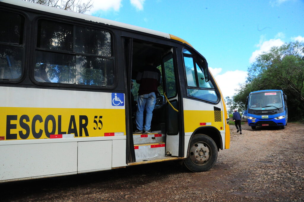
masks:
[[[159,31],[155,31],[155,30],[152,30],[152,29],[139,27],[139,26],[129,25],[129,24],[126,24],[126,23],[123,23],[123,22],[117,22],[117,21],[108,20],[108,19],[104,19],[104,18],[99,18],[99,17],[95,17],[95,16],[91,16],[91,15],[72,12],[72,11],[68,11],[68,10],[64,10],[64,9],[58,9],[58,8],[54,8],[54,7],[50,7],[50,6],[46,6],[46,5],[40,5],[40,4],[36,4],[36,3],[32,3],[32,2],[26,2],[26,1],[23,1],[23,0],[0,0],[0,2],[12,4],[12,5],[17,5],[17,6],[21,6],[21,7],[26,7],[26,8],[29,8],[29,9],[35,9],[35,10],[39,10],[39,11],[55,13],[55,14],[58,14],[58,15],[65,15],[65,16],[70,16],[70,17],[74,17],[74,18],[78,18],[78,19],[84,19],[84,20],[88,20],[88,21],[92,21],[92,22],[103,23],[103,24],[106,24],[106,25],[112,25],[112,26],[122,27],[122,28],[126,28],[126,29],[136,30],[136,31],[139,31],[139,32],[144,32],[144,33],[149,33],[149,34],[153,34],[153,35],[157,35],[157,36],[162,36],[162,37],[165,37],[165,38],[168,38],[168,39],[174,39],[174,40],[180,41],[182,43],[186,43],[189,46],[191,46],[187,41],[185,41],[185,40],[183,40],[183,39],[181,39],[177,36],[167,34],[167,33],[163,33],[163,32],[159,32]]]

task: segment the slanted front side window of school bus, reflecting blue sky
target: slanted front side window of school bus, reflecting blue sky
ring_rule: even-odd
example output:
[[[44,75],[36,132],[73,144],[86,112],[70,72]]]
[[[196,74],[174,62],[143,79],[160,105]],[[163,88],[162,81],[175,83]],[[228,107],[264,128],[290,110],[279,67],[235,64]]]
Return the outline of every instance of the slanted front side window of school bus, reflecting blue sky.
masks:
[[[218,100],[216,89],[211,80],[206,82],[203,68],[195,62],[190,51],[184,49],[183,55],[188,96],[216,103]]]

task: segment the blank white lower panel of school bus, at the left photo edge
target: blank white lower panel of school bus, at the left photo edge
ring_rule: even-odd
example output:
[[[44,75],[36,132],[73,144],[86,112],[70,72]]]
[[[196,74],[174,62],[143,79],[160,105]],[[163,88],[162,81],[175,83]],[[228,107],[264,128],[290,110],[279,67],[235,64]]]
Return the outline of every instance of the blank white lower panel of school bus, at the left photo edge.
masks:
[[[1,145],[0,153],[0,180],[77,172],[77,142]]]

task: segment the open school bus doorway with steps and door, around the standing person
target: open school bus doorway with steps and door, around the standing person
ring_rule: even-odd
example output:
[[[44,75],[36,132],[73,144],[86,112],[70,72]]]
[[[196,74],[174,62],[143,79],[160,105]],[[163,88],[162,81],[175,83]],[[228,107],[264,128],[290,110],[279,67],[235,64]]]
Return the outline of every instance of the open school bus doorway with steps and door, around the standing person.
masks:
[[[130,90],[129,80],[136,79],[138,71],[145,65],[147,56],[155,57],[154,65],[158,66],[162,74],[162,85],[158,87],[159,93],[156,94],[156,104],[151,121],[152,133],[133,134],[132,131],[136,129],[136,125],[131,119],[132,110],[129,110],[130,120],[127,122],[130,137],[127,137],[127,163],[134,165],[179,159],[183,152],[179,148],[183,150],[183,147],[180,147],[182,145],[180,143],[180,113],[173,109],[179,109],[178,79],[176,79],[177,69],[173,49],[171,46],[139,39],[126,38],[125,42],[125,54],[128,60],[128,90]],[[135,98],[138,94],[138,87],[139,84],[134,81],[133,96]],[[168,98],[167,101],[165,101],[163,93]]]

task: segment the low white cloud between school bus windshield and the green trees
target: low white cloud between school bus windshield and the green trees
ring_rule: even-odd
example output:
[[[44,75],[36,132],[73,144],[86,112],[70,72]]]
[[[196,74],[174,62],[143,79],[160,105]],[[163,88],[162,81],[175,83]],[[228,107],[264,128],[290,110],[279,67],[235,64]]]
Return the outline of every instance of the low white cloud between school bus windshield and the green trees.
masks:
[[[239,88],[238,84],[245,83],[247,77],[247,71],[235,70],[219,74],[222,71],[222,68],[209,67],[209,70],[219,85],[224,98],[227,96],[231,98],[234,94],[236,94],[237,92],[235,89]]]

